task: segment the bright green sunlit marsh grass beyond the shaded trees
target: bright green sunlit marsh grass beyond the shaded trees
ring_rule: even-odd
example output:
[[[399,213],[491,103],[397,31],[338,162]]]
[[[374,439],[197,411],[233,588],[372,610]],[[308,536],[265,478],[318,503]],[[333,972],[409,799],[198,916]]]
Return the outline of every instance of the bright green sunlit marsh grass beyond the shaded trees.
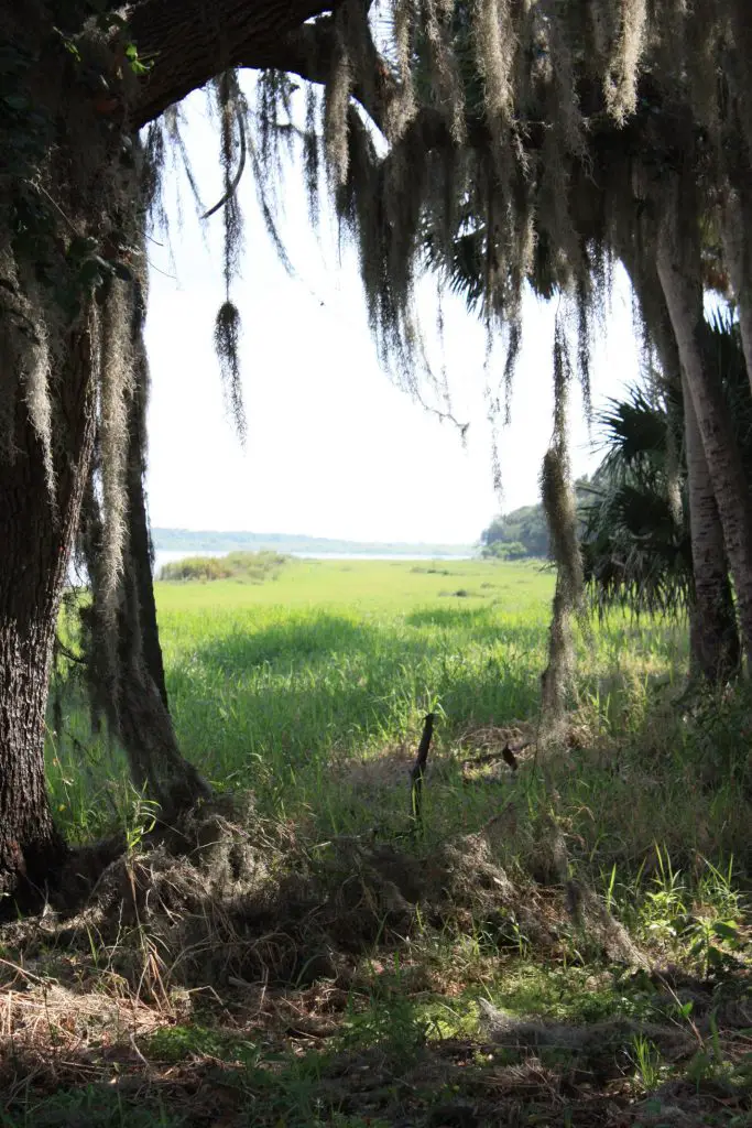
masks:
[[[215,786],[254,790],[266,813],[352,829],[334,761],[412,749],[430,708],[444,750],[468,730],[534,719],[552,588],[534,563],[443,561],[291,561],[262,584],[158,583],[182,748]],[[599,723],[637,729],[651,685],[683,662],[682,633],[618,616],[581,652],[581,699]],[[51,781],[61,821],[85,837],[129,788],[68,705]]]

